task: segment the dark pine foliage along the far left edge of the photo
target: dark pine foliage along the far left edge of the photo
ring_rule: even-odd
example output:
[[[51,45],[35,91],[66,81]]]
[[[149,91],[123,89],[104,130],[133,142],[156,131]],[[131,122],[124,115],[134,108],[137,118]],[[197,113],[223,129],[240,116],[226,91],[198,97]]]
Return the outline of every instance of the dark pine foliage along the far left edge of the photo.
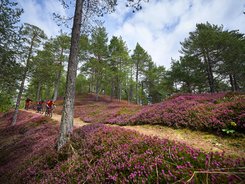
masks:
[[[18,87],[21,66],[18,63],[18,22],[23,10],[18,3],[1,0],[0,5],[0,111],[8,110]]]

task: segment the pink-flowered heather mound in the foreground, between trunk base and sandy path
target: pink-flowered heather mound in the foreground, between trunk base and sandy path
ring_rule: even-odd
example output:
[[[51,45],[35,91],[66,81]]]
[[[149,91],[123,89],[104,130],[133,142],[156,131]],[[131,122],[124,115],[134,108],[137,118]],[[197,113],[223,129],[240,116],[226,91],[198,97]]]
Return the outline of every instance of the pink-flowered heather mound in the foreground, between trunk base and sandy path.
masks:
[[[59,154],[29,165],[21,177],[26,183],[239,183],[244,166],[244,158],[92,124],[77,129]]]

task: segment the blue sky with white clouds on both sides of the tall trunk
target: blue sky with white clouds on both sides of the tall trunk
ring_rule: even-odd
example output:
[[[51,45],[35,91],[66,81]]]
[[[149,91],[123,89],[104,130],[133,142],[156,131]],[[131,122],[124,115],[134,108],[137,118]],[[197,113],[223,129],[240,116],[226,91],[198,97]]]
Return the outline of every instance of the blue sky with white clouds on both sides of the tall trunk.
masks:
[[[52,13],[67,14],[58,0],[17,2],[25,10],[22,22],[40,27],[48,36],[58,34],[60,28]],[[108,37],[122,36],[129,50],[134,50],[138,42],[157,65],[167,69],[171,58],[179,58],[180,42],[195,30],[197,23],[208,21],[245,33],[244,0],[150,0],[142,5],[141,11],[132,13],[125,1],[119,0],[116,12],[104,18]]]

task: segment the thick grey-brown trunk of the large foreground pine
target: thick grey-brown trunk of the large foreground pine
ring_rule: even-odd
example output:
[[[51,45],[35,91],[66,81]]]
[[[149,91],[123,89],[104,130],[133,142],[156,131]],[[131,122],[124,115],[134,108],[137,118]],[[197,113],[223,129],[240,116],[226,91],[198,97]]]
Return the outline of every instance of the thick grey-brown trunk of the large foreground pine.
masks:
[[[72,27],[71,48],[68,62],[68,72],[66,78],[66,95],[63,106],[62,118],[60,123],[60,132],[57,142],[57,149],[60,150],[68,141],[73,132],[73,115],[75,100],[75,82],[78,65],[78,48],[81,32],[82,9],[84,0],[76,0],[76,9]]]

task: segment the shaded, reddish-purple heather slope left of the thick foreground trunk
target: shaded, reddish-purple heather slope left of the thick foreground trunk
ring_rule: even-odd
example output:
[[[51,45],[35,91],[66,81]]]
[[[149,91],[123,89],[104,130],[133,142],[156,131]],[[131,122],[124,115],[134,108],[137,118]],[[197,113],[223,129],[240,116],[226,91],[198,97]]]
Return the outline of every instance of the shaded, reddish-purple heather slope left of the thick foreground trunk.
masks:
[[[20,111],[15,126],[12,117],[13,112],[0,119],[0,183],[21,183],[19,173],[54,152],[58,135],[58,127],[40,114]]]

